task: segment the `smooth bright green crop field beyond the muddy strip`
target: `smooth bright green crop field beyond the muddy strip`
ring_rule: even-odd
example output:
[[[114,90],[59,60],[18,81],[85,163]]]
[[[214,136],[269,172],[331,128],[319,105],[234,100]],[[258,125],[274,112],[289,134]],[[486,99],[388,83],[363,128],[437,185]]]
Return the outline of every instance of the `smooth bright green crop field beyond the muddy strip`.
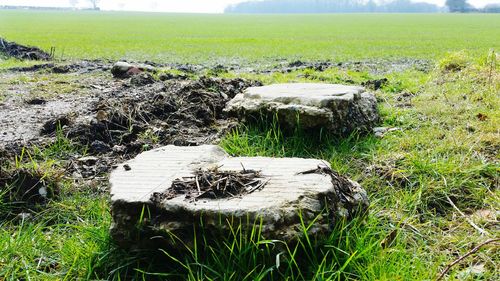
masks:
[[[0,10],[0,36],[57,58],[165,62],[436,59],[500,49],[500,15],[183,15]]]

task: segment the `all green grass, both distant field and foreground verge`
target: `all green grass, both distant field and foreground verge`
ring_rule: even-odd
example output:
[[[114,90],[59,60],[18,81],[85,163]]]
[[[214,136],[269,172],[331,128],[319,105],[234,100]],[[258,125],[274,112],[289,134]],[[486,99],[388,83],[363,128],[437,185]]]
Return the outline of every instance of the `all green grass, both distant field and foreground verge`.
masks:
[[[325,159],[361,183],[370,196],[369,215],[339,223],[321,241],[303,239],[278,258],[279,241],[236,231],[216,245],[200,243],[182,255],[162,253],[164,259],[151,263],[145,253],[126,252],[110,240],[103,187],[64,178],[60,197],[43,210],[0,221],[0,280],[436,280],[446,265],[499,238],[500,63],[489,51],[500,47],[499,16],[0,11],[0,34],[57,46],[74,58],[265,63],[409,57],[430,59],[434,66],[385,74],[341,68],[217,74],[264,84],[388,79],[374,91],[380,126],[398,129],[383,138],[353,134],[318,140],[262,124],[242,126],[221,141],[233,155]],[[19,64],[4,61],[0,69]],[[17,83],[33,87],[37,79],[60,79],[53,73],[33,75]],[[75,151],[86,148],[59,135],[47,147],[27,148],[9,168],[58,175]],[[0,201],[0,214],[8,203]],[[498,280],[498,245],[481,247],[453,266],[445,280]]]

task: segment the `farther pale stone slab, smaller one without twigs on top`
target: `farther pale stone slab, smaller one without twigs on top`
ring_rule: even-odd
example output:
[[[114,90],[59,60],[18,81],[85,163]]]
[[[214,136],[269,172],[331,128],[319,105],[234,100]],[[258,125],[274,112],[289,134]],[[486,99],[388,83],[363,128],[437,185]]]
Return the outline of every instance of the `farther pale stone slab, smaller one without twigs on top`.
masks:
[[[278,117],[294,129],[324,128],[336,135],[368,132],[378,122],[377,101],[362,87],[336,84],[275,84],[248,88],[225,108],[244,121]]]

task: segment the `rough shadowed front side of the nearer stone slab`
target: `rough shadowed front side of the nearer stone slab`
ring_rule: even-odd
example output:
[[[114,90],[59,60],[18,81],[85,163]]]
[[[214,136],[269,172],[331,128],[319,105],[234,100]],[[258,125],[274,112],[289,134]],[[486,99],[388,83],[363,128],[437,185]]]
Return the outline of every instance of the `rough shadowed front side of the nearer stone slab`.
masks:
[[[344,180],[355,187],[350,194],[343,194],[346,191],[340,190],[345,184],[341,182]],[[363,199],[360,200],[360,197]],[[221,231],[229,233],[242,226],[245,230],[257,227],[265,239],[289,243],[303,237],[303,227],[309,227],[312,222],[314,224],[309,227],[307,233],[317,237],[328,235],[339,220],[364,216],[369,206],[361,202],[368,202],[366,191],[358,183],[344,177],[334,183],[327,192],[304,196],[288,203],[286,207],[276,206],[254,212],[190,210],[191,215],[186,217],[189,212],[182,207],[165,210],[152,202],[117,200],[112,203],[111,236],[125,248],[179,249],[191,245],[200,229],[210,237]],[[318,213],[302,208],[312,205],[317,206],[316,210],[322,211]],[[299,219],[299,216],[302,216],[302,219]],[[304,225],[297,223],[301,221]]]

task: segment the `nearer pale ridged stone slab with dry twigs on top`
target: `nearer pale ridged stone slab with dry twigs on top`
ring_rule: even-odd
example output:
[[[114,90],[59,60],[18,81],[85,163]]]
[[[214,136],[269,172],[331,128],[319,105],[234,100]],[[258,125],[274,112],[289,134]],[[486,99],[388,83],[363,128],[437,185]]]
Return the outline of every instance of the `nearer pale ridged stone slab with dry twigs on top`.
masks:
[[[123,247],[183,248],[194,239],[193,227],[216,235],[234,224],[250,230],[261,220],[265,239],[295,241],[303,234],[301,217],[306,224],[317,219],[310,235],[328,234],[339,218],[364,214],[368,199],[356,182],[318,170],[329,170],[325,165],[316,159],[230,157],[214,145],[144,152],[111,173],[111,235]],[[226,199],[158,196],[167,194],[174,180],[215,167],[221,172],[260,171],[264,186]],[[182,243],[169,239],[171,235]]]

